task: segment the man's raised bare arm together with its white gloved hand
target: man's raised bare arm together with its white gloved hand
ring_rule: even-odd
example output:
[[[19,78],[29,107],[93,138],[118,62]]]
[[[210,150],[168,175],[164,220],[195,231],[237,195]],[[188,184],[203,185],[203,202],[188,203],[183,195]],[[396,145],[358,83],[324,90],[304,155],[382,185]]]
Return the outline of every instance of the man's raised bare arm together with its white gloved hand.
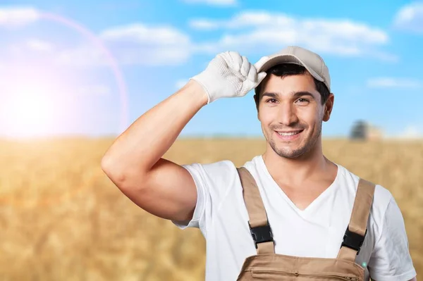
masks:
[[[262,63],[262,61],[260,61]],[[163,155],[202,106],[244,96],[264,79],[236,52],[216,56],[185,87],[140,116],[106,151],[102,169],[137,206],[168,220],[190,220],[197,189],[188,170]]]

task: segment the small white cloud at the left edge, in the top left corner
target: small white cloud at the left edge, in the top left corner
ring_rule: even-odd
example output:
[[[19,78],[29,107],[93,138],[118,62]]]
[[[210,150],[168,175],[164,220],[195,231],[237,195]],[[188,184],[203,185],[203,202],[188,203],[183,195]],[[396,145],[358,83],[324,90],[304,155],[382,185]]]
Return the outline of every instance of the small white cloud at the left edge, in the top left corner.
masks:
[[[11,6],[0,8],[0,26],[12,27],[33,23],[41,18],[41,13],[32,7]]]

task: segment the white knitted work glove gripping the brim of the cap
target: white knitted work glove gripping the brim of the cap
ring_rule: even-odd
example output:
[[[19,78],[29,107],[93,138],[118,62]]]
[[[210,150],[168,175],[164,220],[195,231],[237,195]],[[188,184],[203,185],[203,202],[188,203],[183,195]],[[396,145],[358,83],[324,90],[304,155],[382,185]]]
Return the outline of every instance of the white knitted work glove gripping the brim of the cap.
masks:
[[[202,85],[209,98],[207,104],[223,97],[245,96],[266,77],[265,72],[257,73],[257,69],[267,59],[262,57],[252,65],[238,52],[226,51],[214,57],[202,73],[190,79]]]

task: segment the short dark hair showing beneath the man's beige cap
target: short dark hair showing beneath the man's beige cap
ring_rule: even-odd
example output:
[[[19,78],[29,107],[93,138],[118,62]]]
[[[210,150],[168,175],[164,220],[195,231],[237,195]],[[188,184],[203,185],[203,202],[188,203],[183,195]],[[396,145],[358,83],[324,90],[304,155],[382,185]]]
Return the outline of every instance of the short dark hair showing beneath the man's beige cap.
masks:
[[[287,75],[305,74],[307,73],[307,69],[304,66],[298,65],[298,64],[281,63],[269,68],[269,70],[267,70],[266,73],[267,75],[273,74],[279,77],[284,77]],[[316,86],[317,92],[320,93],[321,104],[323,105],[324,103],[326,103],[331,92],[329,91],[328,87],[324,85],[324,82],[321,82],[314,77],[313,77],[313,80],[314,80],[314,85]],[[255,99],[257,110],[259,108],[259,101],[260,101],[260,94],[262,91],[262,87],[263,87],[263,82],[261,82],[255,89],[256,94],[254,95],[254,99]]]

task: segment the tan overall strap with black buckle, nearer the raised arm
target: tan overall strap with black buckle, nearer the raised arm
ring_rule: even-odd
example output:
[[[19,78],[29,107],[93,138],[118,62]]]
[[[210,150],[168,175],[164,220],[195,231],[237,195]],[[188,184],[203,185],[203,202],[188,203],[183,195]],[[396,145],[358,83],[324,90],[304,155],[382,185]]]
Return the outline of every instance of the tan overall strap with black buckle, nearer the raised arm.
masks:
[[[250,218],[248,224],[257,254],[274,254],[273,235],[257,183],[245,167],[237,168],[237,170],[243,186],[245,206],[247,206],[248,217]]]

